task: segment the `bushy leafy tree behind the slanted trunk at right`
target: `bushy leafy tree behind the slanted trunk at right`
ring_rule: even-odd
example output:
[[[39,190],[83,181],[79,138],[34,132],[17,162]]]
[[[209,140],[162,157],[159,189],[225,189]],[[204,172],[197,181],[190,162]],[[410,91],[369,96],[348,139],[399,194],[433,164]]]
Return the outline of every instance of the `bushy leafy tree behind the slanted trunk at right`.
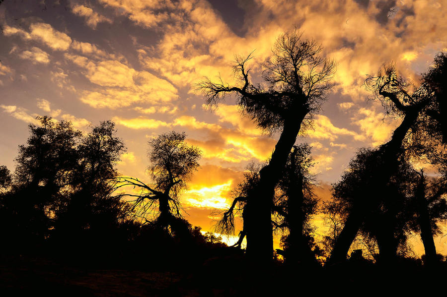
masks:
[[[333,202],[329,205],[332,213],[329,215],[335,220],[335,228],[339,228],[339,218],[347,220],[353,213],[361,213],[362,225],[357,234],[362,237],[360,243],[376,240],[380,257],[391,259],[398,251],[406,250],[409,233],[406,205],[413,194],[415,175],[411,165],[401,155],[396,171],[380,185],[381,196],[372,200],[366,193],[374,191],[373,187],[378,186],[371,181],[375,181],[375,177],[383,171],[375,167],[377,151],[379,149],[360,149],[351,160],[349,170],[339,182],[333,184]],[[340,229],[333,231],[337,235]]]

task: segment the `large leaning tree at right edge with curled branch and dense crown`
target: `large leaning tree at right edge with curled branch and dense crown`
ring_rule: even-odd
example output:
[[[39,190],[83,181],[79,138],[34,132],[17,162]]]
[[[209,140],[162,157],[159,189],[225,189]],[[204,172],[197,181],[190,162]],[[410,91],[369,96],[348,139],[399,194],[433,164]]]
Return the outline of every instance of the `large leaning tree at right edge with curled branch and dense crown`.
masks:
[[[444,103],[442,102],[445,101],[443,94],[445,94],[446,61],[444,53],[438,54],[435,57],[434,66],[423,73],[418,88],[405,78],[398,76],[393,64],[384,66],[377,76],[369,76],[365,81],[365,86],[372,91],[373,98],[381,102],[385,113],[402,119],[401,124],[394,130],[391,140],[377,150],[375,172],[380,172],[380,174],[371,179],[371,182],[375,184],[374,191],[369,192],[367,198],[375,201],[371,205],[372,208],[380,203],[380,199],[374,199],[373,196],[381,196],[379,189],[383,188],[393,172],[396,172],[397,161],[403,153],[418,157],[423,152],[432,164],[443,166],[445,146],[438,139],[445,140],[443,134],[445,124],[442,117]],[[441,154],[439,148],[441,148]],[[382,171],[378,170],[379,167]],[[360,213],[353,213],[346,219],[329,263],[342,261],[346,257],[346,252],[362,220]]]

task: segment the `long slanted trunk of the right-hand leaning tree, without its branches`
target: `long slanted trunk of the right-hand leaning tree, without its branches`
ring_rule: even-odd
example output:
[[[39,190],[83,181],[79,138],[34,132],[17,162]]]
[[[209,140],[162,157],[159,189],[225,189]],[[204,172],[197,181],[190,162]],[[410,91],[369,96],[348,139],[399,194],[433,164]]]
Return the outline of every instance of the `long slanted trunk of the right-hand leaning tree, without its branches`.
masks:
[[[383,194],[381,193],[381,190],[389,181],[393,173],[396,172],[398,165],[397,159],[402,142],[410,127],[416,121],[418,114],[419,109],[409,110],[406,113],[405,118],[402,120],[402,123],[394,130],[391,140],[382,145],[379,149],[377,157],[380,158],[380,160],[377,160],[376,172],[380,174],[375,176],[374,180],[369,183],[371,185],[370,189],[366,190],[365,197],[362,198],[368,199],[368,209],[354,208],[348,215],[345,226],[335,241],[334,248],[327,261],[328,265],[346,260],[349,248],[365,220],[365,213],[379,206],[381,202],[380,197]]]

